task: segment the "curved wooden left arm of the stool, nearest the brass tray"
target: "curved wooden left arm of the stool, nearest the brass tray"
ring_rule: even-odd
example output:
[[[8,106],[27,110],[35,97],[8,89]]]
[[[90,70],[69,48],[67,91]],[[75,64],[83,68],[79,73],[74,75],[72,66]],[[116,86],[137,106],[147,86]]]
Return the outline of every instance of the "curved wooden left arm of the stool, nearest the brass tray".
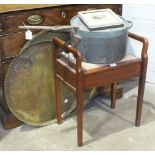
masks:
[[[75,59],[76,59],[76,72],[79,73],[82,71],[81,68],[81,62],[82,62],[82,55],[81,53],[74,47],[68,45],[67,43],[65,43],[63,40],[55,37],[53,39],[53,43],[54,43],[54,57],[55,59],[59,58],[59,47],[64,49],[67,52],[70,52],[74,55]]]

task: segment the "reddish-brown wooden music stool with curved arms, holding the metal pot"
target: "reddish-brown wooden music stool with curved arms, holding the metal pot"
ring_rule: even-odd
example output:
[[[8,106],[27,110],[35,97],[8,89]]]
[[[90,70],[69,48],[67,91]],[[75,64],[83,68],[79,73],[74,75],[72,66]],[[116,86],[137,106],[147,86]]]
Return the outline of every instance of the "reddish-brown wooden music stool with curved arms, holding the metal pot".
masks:
[[[82,55],[71,45],[58,38],[54,38],[54,76],[55,76],[55,95],[57,121],[60,124],[61,118],[61,99],[60,81],[75,88],[77,100],[77,138],[78,146],[83,145],[83,96],[84,90],[103,85],[111,85],[111,107],[115,108],[115,86],[117,82],[128,80],[132,77],[139,77],[137,109],[135,125],[140,125],[143,95],[145,87],[145,77],[147,69],[147,49],[148,40],[139,35],[129,33],[129,37],[143,44],[141,58],[127,58],[116,63],[115,66],[102,65],[96,67],[86,67],[82,63]],[[67,58],[62,57],[61,52],[67,51],[74,55],[76,62],[73,63]]]

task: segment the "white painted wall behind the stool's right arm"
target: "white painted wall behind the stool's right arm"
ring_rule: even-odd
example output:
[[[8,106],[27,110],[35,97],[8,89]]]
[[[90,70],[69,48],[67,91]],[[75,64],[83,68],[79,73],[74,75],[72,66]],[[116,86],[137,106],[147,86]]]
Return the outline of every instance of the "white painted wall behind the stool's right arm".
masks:
[[[131,32],[146,37],[149,40],[148,69],[146,81],[155,84],[155,5],[123,5],[123,17],[131,20],[134,25]],[[140,44],[129,40],[128,51],[140,56]]]

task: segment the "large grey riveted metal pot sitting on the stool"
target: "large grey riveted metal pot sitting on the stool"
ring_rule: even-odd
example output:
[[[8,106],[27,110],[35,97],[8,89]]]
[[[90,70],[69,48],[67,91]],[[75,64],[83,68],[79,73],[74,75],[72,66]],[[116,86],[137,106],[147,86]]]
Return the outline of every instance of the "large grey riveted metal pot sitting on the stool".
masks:
[[[79,29],[72,31],[72,40],[78,40],[76,47],[83,54],[85,62],[110,64],[125,57],[128,30],[133,24],[125,19],[123,21],[121,27],[89,30],[78,15],[71,19],[72,26],[79,26]]]

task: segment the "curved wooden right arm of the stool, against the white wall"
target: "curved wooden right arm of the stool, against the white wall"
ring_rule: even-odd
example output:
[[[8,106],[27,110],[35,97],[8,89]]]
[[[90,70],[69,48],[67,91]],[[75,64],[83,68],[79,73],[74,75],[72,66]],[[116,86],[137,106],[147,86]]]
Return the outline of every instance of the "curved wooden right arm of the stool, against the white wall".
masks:
[[[131,32],[128,33],[128,36],[132,39],[142,42],[143,47],[142,47],[141,59],[147,60],[148,59],[147,50],[148,50],[148,45],[149,45],[148,40],[142,36],[139,36]]]

